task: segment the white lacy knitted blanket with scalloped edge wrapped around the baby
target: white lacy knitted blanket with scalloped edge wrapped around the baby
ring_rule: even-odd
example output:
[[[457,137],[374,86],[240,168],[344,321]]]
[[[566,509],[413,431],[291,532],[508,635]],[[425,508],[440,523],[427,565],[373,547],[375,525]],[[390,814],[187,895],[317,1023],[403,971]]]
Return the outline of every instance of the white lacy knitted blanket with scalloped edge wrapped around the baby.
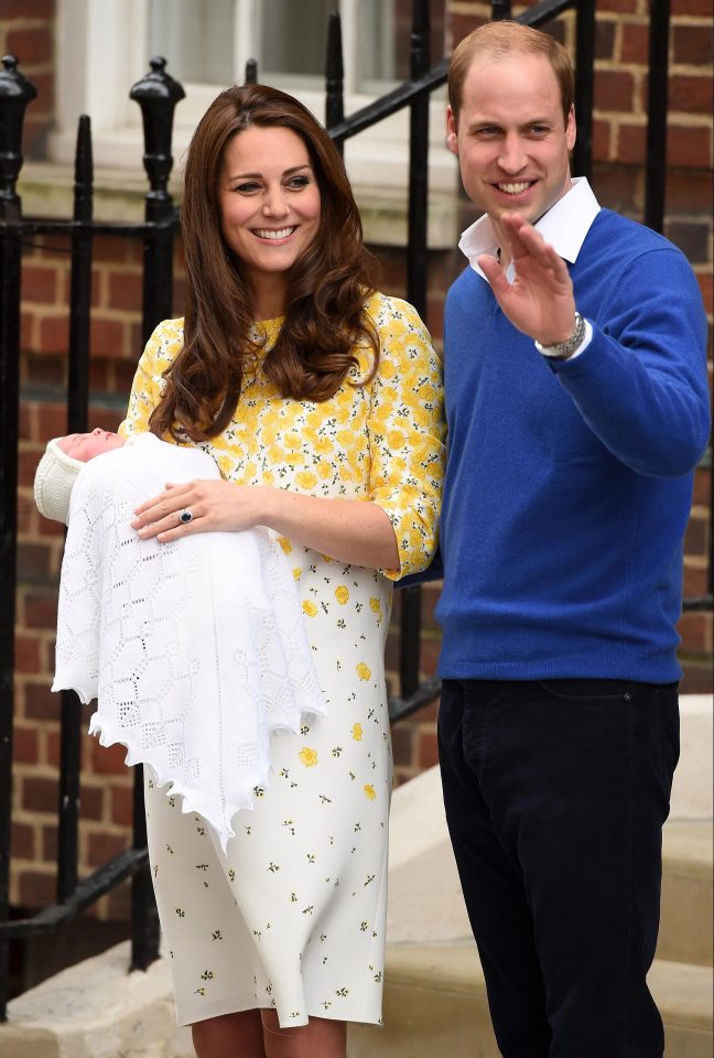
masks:
[[[80,471],[62,563],[53,691],[97,699],[89,731],[147,764],[221,846],[267,786],[270,734],[326,708],[294,580],[267,529],[141,540],[133,509],[214,461],[142,434]]]

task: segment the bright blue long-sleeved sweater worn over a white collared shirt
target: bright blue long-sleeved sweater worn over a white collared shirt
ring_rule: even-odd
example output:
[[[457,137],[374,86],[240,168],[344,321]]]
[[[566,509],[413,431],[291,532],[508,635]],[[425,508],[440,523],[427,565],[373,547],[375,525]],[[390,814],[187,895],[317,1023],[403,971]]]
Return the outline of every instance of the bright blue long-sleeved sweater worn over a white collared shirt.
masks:
[[[575,264],[591,345],[551,361],[467,268],[444,328],[441,522],[453,679],[678,680],[693,467],[706,445],[706,321],[661,236],[597,215]]]

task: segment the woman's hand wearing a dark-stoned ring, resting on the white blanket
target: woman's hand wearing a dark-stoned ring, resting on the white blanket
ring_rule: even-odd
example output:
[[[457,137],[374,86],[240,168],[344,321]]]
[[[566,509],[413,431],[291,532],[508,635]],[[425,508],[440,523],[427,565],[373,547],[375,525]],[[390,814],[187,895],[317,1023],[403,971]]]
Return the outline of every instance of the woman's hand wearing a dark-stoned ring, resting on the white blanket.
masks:
[[[167,543],[192,532],[239,532],[263,525],[261,485],[234,485],[225,481],[197,479],[169,483],[165,492],[137,507],[132,527],[148,540]],[[264,495],[263,495],[264,499]],[[192,517],[183,520],[182,515]]]

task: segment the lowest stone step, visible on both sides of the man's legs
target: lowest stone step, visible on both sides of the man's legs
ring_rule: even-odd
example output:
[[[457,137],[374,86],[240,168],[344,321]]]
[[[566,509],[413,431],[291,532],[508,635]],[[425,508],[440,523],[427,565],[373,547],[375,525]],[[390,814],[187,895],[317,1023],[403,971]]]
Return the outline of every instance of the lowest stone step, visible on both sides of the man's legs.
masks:
[[[712,969],[656,961],[667,1058],[711,1058]],[[349,1027],[348,1058],[499,1058],[473,943],[388,948],[385,1028]]]

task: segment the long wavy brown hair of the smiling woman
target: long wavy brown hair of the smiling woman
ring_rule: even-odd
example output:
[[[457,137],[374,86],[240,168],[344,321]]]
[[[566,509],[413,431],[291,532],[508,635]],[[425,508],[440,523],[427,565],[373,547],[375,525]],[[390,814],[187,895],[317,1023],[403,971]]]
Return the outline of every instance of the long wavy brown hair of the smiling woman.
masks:
[[[303,140],[320,187],[315,238],[291,270],[285,319],[261,369],[282,397],[323,401],[357,364],[355,346],[379,339],[364,311],[374,292],[374,258],[339,152],[310,110],[264,85],[234,86],[213,101],[186,160],[181,226],[186,255],[184,344],[165,373],[150,428],[175,440],[206,441],[230,422],[247,369],[260,349],[250,337],[248,290],[240,261],[220,230],[219,179],[228,143],[250,126],[291,129]],[[365,379],[368,380],[368,379]],[[363,380],[363,381],[365,381]]]

